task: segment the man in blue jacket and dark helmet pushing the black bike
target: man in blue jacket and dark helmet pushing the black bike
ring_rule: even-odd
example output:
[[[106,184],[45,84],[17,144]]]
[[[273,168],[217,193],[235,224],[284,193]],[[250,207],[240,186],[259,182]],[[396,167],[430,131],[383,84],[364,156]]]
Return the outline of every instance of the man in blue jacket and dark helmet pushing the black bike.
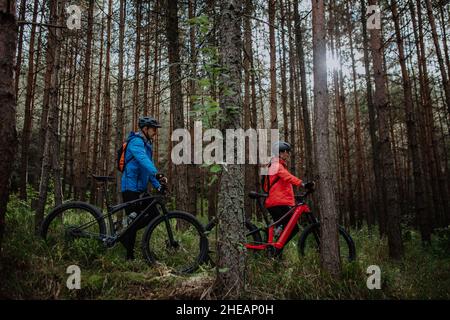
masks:
[[[147,191],[149,182],[156,190],[163,193],[167,182],[164,175],[158,174],[152,157],[153,138],[161,125],[152,117],[141,117],[139,118],[139,128],[138,132],[130,132],[127,139],[125,168],[122,174],[122,199],[124,202],[139,199],[140,195]],[[163,183],[161,184],[160,181]],[[135,206],[128,207],[125,212],[127,216],[133,212],[139,213],[148,204],[138,202]],[[128,260],[134,259],[134,245],[138,229],[145,227],[157,214],[155,212],[150,215],[145,219],[145,224],[136,226],[123,238],[122,243],[127,250]]]

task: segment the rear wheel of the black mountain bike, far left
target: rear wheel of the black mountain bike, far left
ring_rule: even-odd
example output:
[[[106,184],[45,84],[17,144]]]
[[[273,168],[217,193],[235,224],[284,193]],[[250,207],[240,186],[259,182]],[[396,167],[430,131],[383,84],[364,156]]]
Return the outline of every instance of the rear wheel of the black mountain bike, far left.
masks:
[[[100,239],[106,235],[106,225],[96,207],[71,201],[47,215],[40,235],[52,253],[89,262],[103,248]]]

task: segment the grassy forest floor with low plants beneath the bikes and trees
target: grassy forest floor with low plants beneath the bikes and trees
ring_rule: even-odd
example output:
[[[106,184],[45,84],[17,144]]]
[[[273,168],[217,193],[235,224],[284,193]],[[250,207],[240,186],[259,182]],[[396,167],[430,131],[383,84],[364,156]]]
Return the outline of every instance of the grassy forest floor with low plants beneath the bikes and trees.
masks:
[[[51,206],[51,204],[49,204]],[[178,276],[148,266],[138,252],[125,261],[121,245],[101,254],[67,259],[50,252],[34,235],[30,205],[13,195],[8,203],[0,264],[0,299],[214,299],[215,269]],[[283,259],[247,259],[245,299],[450,299],[450,239],[434,237],[424,248],[413,230],[404,234],[402,260],[388,257],[387,243],[367,228],[351,230],[357,259],[344,263],[335,279],[321,271],[316,256],[300,259],[291,241]],[[139,243],[139,239],[137,240]],[[138,251],[138,250],[137,250]],[[81,289],[69,290],[69,265],[81,268]],[[381,289],[367,288],[367,268],[381,270]]]

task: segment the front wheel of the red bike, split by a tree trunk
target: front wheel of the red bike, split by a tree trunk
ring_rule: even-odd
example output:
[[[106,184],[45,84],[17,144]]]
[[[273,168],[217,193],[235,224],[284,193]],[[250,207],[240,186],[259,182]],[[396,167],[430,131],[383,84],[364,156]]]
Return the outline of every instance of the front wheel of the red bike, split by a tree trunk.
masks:
[[[356,258],[356,248],[352,237],[339,226],[339,250],[341,260],[353,261]],[[298,240],[299,256],[320,253],[320,223],[310,224]]]

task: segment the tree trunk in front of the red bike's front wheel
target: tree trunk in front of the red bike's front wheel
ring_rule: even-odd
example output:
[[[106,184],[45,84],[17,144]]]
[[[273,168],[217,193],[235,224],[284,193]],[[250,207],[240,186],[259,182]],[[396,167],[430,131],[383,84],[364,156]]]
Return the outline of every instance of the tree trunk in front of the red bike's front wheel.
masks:
[[[313,63],[314,63],[314,155],[319,176],[321,212],[320,256],[322,266],[332,275],[340,273],[338,213],[334,195],[334,178],[329,149],[329,101],[326,63],[326,23],[323,0],[312,0]]]

